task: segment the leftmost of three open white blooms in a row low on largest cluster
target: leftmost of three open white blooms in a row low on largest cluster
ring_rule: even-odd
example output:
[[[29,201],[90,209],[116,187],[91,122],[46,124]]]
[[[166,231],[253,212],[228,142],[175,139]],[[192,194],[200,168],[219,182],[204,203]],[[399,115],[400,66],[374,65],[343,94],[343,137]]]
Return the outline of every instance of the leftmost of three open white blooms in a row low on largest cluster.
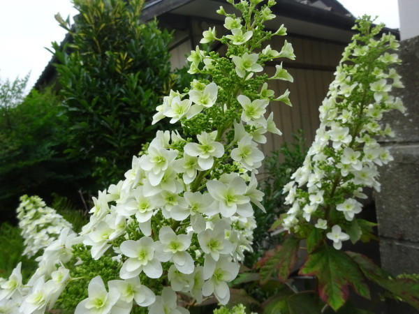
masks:
[[[138,276],[142,271],[149,278],[159,278],[163,269],[158,257],[154,256],[154,241],[150,237],[142,237],[138,241],[127,240],[120,246],[122,254],[129,257],[119,271],[122,279]]]

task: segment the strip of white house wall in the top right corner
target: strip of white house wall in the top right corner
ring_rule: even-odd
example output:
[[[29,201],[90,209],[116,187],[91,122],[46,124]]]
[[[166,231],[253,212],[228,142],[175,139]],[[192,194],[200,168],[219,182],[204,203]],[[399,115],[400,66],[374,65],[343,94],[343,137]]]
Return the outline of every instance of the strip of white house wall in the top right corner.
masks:
[[[400,39],[419,36],[419,0],[399,0]]]

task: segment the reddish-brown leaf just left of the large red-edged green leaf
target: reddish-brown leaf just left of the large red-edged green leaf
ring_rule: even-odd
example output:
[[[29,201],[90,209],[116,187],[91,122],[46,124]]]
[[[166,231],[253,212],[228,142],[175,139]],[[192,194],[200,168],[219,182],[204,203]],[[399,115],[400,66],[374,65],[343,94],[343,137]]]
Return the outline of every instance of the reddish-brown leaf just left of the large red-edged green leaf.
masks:
[[[279,281],[285,283],[297,262],[298,248],[300,247],[300,239],[295,237],[287,237],[284,244],[277,248],[272,257],[268,258],[265,264],[260,267],[261,283],[267,283],[274,271],[278,271]]]

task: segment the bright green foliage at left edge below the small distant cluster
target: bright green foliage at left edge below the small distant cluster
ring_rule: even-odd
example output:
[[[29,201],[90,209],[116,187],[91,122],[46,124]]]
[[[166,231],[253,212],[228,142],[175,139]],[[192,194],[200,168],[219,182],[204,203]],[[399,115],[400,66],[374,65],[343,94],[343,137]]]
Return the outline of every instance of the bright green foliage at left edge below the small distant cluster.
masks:
[[[26,282],[34,274],[38,263],[35,257],[23,255],[24,244],[20,228],[9,223],[0,225],[0,277],[8,278],[19,262],[22,262],[22,279]]]

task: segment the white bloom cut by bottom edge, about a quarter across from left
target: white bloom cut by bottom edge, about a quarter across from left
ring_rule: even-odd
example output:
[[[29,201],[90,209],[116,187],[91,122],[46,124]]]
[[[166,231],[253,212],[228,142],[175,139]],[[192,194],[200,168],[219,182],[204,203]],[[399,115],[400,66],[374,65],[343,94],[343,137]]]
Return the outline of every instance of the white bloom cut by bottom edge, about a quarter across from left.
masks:
[[[87,290],[89,291],[89,297],[78,304],[75,308],[75,314],[110,313],[112,306],[117,303],[120,296],[118,290],[106,291],[101,276],[91,279]]]

